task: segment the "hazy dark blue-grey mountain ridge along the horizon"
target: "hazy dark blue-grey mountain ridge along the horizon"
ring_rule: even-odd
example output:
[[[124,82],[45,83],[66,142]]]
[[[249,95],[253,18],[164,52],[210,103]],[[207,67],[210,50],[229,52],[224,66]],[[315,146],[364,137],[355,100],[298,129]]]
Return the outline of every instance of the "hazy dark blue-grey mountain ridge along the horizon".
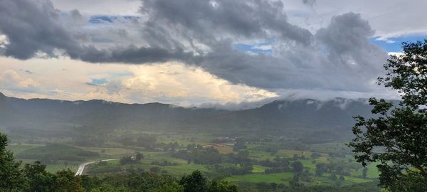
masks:
[[[353,116],[369,117],[367,100],[276,100],[250,110],[185,108],[162,103],[123,104],[104,100],[24,100],[2,96],[0,114],[8,114],[0,126],[65,129],[73,126],[107,128],[288,131],[334,130],[349,132]]]

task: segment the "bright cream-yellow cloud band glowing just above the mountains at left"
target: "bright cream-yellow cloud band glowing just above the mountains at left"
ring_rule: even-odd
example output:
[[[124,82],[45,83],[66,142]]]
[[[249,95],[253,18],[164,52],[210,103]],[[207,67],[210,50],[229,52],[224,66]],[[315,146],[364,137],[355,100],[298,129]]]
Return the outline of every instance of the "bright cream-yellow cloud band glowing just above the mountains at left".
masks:
[[[23,98],[168,102],[188,106],[205,102],[253,102],[278,96],[255,87],[232,85],[200,68],[189,68],[181,63],[100,65],[68,58],[16,60],[0,57],[0,71],[3,71],[0,91]],[[92,79],[108,82],[90,85]]]

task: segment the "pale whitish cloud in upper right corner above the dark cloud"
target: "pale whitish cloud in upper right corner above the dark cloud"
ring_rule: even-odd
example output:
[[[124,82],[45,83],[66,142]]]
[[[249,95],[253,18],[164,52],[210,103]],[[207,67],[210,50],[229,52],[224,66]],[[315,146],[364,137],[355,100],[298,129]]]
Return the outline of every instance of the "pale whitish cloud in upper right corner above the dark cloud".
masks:
[[[422,18],[427,1],[322,0],[316,1],[312,7],[300,1],[282,1],[290,22],[309,28],[312,32],[327,26],[332,16],[349,11],[362,14],[376,31],[375,35],[381,38],[427,32],[427,20]]]

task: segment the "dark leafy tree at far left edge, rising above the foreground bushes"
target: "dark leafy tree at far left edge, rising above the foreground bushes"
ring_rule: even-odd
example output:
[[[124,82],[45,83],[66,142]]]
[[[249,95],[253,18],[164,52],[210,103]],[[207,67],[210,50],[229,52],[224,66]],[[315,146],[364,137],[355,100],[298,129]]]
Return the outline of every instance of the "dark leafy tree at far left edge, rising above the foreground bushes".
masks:
[[[0,191],[21,191],[23,188],[23,174],[14,154],[6,150],[7,137],[0,133]]]

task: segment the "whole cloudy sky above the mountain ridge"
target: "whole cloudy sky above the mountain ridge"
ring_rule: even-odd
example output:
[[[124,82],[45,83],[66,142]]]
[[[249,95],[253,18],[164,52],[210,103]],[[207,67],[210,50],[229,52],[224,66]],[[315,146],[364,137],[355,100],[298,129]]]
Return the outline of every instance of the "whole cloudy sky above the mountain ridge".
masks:
[[[376,84],[427,1],[2,0],[0,92],[181,106],[399,98]]]

